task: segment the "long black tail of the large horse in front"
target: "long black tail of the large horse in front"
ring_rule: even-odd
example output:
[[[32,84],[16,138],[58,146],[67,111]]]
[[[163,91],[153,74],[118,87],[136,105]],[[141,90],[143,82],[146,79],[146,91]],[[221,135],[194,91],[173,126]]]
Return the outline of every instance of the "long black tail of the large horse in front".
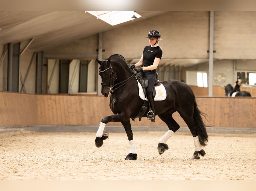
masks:
[[[203,119],[202,119],[202,115],[204,117],[206,116],[205,113],[203,113],[202,111],[199,110],[198,104],[195,101],[193,119],[194,119],[195,126],[196,126],[196,129],[197,129],[197,133],[198,133],[198,136],[199,136],[199,142],[200,142],[201,146],[204,147],[204,146],[206,146],[206,144],[208,142],[208,134],[207,134],[207,131],[206,131],[206,125],[205,125],[205,123],[203,122]]]

